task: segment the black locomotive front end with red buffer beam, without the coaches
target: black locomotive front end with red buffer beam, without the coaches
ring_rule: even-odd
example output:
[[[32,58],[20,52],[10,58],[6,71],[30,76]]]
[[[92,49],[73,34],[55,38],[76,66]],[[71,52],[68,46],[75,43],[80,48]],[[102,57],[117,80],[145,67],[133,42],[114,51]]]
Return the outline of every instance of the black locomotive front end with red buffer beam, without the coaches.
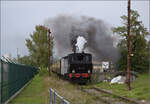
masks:
[[[92,55],[73,53],[69,56],[69,77],[73,80],[87,81],[92,75]]]

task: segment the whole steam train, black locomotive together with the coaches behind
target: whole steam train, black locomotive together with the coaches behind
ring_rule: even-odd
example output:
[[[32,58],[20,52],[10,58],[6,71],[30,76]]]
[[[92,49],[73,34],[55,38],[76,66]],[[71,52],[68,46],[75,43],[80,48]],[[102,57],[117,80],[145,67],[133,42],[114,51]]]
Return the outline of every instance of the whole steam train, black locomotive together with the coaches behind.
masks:
[[[88,53],[72,53],[56,61],[52,71],[65,79],[86,83],[92,76],[92,55]]]

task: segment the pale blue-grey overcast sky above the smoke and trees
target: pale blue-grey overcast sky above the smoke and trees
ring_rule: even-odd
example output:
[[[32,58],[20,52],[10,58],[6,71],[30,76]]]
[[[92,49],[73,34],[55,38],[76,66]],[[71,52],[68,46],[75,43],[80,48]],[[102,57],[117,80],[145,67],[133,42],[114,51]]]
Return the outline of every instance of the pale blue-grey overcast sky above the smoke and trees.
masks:
[[[132,0],[131,0],[132,1]],[[146,28],[149,29],[149,1],[132,1]],[[120,26],[120,16],[127,14],[127,1],[1,1],[1,55],[27,55],[25,39],[36,25],[60,14],[90,16],[110,26]]]

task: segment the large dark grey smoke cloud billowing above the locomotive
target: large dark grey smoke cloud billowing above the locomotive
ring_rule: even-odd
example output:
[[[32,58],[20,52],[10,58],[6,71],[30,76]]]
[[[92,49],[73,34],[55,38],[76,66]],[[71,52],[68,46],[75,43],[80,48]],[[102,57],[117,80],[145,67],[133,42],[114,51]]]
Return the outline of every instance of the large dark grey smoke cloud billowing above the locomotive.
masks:
[[[71,53],[71,50],[75,49],[78,37],[83,37],[86,40],[83,49],[91,52],[94,59],[118,59],[112,32],[100,19],[60,15],[45,20],[45,25],[51,28],[57,56]]]

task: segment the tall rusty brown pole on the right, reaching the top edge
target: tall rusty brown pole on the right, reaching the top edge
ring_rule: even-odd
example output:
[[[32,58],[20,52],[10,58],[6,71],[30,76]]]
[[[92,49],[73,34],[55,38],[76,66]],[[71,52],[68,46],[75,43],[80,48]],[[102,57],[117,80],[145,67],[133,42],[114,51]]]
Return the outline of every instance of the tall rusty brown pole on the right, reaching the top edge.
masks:
[[[127,33],[128,33],[128,37],[127,37],[127,47],[128,47],[128,55],[127,55],[127,78],[126,78],[126,83],[127,83],[127,87],[128,90],[131,90],[131,86],[130,86],[130,69],[131,69],[131,65],[130,65],[130,54],[131,54],[131,47],[130,47],[130,2],[131,0],[128,0],[128,26],[127,26]]]

